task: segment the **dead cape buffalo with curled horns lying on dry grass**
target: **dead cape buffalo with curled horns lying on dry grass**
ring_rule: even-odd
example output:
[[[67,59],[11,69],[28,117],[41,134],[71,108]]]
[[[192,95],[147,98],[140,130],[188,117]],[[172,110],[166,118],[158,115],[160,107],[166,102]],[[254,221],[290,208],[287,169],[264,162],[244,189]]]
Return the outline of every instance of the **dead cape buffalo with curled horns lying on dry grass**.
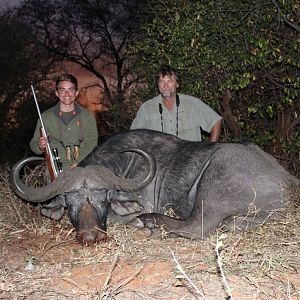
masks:
[[[124,224],[164,226],[187,238],[203,238],[232,222],[246,230],[286,207],[285,193],[300,184],[253,144],[189,142],[151,130],[115,135],[78,168],[29,188],[19,173],[36,159],[12,168],[12,188],[30,202],[64,195],[61,205],[86,244],[106,238],[108,212]]]

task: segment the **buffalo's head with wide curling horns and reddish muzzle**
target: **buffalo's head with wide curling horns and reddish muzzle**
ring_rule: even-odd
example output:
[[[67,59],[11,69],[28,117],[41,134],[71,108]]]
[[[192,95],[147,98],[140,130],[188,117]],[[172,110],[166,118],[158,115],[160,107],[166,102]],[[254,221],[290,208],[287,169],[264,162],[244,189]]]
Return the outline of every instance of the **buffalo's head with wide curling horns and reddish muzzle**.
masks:
[[[132,192],[147,186],[156,171],[154,158],[141,149],[130,148],[121,152],[142,155],[149,164],[149,172],[142,179],[125,179],[104,165],[88,165],[65,170],[54,181],[42,187],[29,187],[20,179],[21,169],[41,157],[29,157],[17,162],[11,169],[10,183],[22,199],[42,203],[58,195],[65,196],[65,205],[77,238],[83,244],[106,240],[106,222],[112,191]]]

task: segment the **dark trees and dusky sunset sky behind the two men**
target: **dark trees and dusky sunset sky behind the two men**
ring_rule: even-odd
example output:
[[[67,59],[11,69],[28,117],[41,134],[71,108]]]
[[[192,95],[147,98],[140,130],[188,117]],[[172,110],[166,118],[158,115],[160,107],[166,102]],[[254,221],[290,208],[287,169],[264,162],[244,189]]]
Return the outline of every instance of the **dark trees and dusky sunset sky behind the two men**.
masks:
[[[253,142],[299,172],[297,1],[13,3],[1,11],[2,162],[28,155],[37,119],[30,84],[43,111],[56,102],[58,74],[78,76],[101,141],[129,127],[157,94],[156,71],[170,64],[182,93],[223,116],[221,141]]]

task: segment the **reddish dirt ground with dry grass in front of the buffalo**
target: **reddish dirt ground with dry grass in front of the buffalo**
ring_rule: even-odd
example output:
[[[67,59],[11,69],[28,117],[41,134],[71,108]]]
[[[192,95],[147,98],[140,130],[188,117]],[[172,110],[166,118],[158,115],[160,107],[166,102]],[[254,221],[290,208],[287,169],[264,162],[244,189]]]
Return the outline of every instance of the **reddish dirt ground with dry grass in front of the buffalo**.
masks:
[[[106,243],[80,245],[66,216],[42,217],[2,171],[0,299],[300,299],[299,206],[255,230],[198,241],[108,227]]]

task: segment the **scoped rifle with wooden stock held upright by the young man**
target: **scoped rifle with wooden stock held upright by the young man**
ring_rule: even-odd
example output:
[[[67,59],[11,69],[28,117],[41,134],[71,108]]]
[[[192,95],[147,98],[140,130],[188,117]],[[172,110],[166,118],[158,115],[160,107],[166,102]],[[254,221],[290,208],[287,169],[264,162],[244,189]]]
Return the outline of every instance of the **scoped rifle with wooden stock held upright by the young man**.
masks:
[[[44,122],[43,122],[43,119],[42,119],[41,111],[40,111],[40,108],[39,108],[39,104],[37,102],[35,91],[34,91],[34,88],[33,88],[32,85],[31,85],[31,90],[32,90],[34,102],[35,102],[35,105],[36,105],[36,109],[37,109],[37,112],[38,112],[38,115],[39,115],[39,120],[40,120],[40,123],[41,123],[41,128],[40,128],[41,136],[47,138],[47,145],[46,145],[46,149],[45,149],[45,160],[47,162],[47,168],[48,168],[48,171],[49,171],[49,174],[50,174],[51,181],[53,181],[62,172],[62,164],[59,160],[57,149],[56,148],[53,149],[53,152],[51,150],[50,143],[48,141],[48,136],[47,136],[47,133],[46,133],[46,129],[45,129],[45,126],[44,126]]]

